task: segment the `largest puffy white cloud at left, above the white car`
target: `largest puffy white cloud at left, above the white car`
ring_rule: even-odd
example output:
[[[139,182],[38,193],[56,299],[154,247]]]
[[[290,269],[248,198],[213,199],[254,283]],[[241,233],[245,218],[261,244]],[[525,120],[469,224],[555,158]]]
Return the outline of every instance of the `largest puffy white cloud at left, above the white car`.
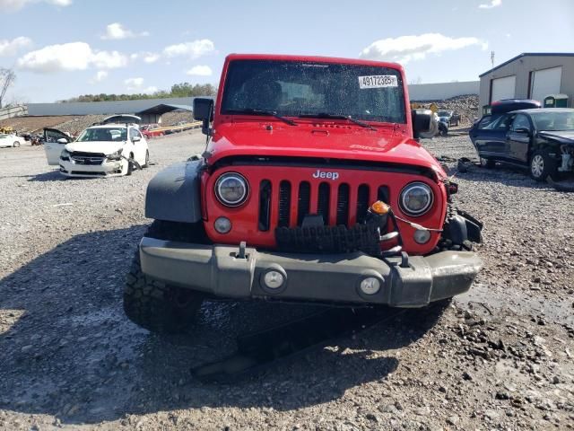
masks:
[[[127,57],[117,51],[93,50],[85,42],[71,42],[61,45],[48,45],[20,57],[17,62],[21,69],[39,74],[61,71],[86,70],[91,67],[114,69],[127,65]]]

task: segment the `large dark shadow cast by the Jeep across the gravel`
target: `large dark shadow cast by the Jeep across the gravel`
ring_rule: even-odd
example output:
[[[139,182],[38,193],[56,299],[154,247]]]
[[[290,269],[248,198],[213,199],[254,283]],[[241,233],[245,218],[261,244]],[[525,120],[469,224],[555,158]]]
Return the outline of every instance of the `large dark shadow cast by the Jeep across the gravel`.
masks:
[[[402,312],[237,383],[202,383],[191,367],[232,354],[238,335],[319,307],[205,303],[185,336],[151,335],[127,321],[121,306],[144,229],[77,235],[0,280],[0,409],[72,424],[190,408],[300,409],[384,381],[399,366],[388,350],[420,339],[442,312]]]

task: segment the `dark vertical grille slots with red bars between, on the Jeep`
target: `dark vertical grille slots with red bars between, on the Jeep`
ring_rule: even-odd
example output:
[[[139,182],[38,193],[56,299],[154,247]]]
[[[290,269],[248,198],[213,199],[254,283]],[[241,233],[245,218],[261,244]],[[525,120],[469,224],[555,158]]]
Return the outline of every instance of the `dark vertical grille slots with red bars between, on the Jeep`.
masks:
[[[292,190],[296,190],[296,195]],[[277,215],[277,227],[300,226],[305,216],[310,214],[322,216],[327,225],[350,226],[352,221],[362,223],[371,203],[370,192],[368,184],[352,189],[347,183],[324,181],[311,187],[309,181],[296,183],[290,180],[281,180],[278,190],[274,190],[269,180],[262,180],[259,184],[259,230],[266,232],[270,229],[274,224],[272,214]],[[273,193],[279,193],[276,212],[271,210]],[[387,186],[379,186],[377,196],[388,202]],[[296,216],[296,223],[292,223],[293,216]]]

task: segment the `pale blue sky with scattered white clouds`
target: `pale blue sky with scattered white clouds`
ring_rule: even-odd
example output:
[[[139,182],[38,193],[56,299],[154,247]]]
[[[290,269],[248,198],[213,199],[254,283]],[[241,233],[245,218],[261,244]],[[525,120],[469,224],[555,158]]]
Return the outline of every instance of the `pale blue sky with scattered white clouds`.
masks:
[[[474,81],[521,52],[574,52],[574,0],[0,0],[4,102],[219,84],[230,53],[401,63]]]

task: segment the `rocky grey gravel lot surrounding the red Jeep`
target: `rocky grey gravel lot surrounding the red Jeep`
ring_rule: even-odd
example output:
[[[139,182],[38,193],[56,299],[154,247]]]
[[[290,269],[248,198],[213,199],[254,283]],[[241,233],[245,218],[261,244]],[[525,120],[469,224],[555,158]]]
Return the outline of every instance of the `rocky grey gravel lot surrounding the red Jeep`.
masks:
[[[447,163],[458,207],[485,224],[470,293],[237,382],[196,380],[190,367],[229,355],[238,334],[314,310],[207,303],[177,338],[126,320],[145,185],[203,142],[154,140],[157,164],[107,180],[62,180],[41,147],[0,150],[0,429],[574,427],[574,194],[501,167]],[[465,135],[424,145],[474,156]]]

